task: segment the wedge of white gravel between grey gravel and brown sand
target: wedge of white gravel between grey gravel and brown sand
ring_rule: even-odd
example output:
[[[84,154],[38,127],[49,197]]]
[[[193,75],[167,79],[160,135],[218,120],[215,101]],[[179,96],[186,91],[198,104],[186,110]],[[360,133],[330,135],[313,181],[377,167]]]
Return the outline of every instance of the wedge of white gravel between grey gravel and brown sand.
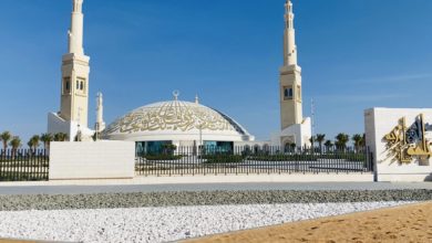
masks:
[[[167,242],[405,203],[300,203],[0,212],[0,237],[68,242]]]

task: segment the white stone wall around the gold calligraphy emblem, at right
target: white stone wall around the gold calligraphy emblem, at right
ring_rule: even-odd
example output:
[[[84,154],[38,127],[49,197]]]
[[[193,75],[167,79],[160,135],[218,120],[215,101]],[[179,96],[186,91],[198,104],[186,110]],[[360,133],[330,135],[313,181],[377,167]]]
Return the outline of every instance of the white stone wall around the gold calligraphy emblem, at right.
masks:
[[[426,162],[413,160],[411,163],[401,165],[387,148],[384,139],[384,136],[399,125],[402,117],[405,117],[409,127],[420,114],[423,114],[425,123],[432,123],[432,109],[430,108],[372,108],[364,112],[367,146],[373,152],[376,180],[425,181],[432,179],[432,159]]]

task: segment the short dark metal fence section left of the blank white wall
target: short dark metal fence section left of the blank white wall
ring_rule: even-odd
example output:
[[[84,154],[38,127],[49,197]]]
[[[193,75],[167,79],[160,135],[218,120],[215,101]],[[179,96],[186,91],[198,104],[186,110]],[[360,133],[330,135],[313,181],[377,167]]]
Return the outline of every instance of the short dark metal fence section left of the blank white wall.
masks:
[[[48,180],[49,165],[44,149],[1,149],[0,181]]]

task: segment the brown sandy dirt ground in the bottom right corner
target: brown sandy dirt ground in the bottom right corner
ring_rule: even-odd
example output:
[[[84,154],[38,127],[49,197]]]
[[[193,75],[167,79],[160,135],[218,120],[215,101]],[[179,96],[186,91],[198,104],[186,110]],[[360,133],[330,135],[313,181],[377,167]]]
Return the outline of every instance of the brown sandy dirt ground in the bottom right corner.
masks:
[[[432,202],[233,232],[186,242],[432,242]]]

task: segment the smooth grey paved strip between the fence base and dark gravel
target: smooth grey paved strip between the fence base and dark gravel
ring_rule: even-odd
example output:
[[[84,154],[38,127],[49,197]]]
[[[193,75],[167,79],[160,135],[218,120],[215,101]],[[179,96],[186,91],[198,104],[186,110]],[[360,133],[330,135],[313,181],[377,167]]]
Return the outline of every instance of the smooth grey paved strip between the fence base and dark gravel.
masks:
[[[194,183],[194,184],[120,184],[120,186],[19,186],[1,187],[0,194],[81,194],[163,191],[248,191],[248,190],[432,190],[432,182],[263,182],[263,183]]]

